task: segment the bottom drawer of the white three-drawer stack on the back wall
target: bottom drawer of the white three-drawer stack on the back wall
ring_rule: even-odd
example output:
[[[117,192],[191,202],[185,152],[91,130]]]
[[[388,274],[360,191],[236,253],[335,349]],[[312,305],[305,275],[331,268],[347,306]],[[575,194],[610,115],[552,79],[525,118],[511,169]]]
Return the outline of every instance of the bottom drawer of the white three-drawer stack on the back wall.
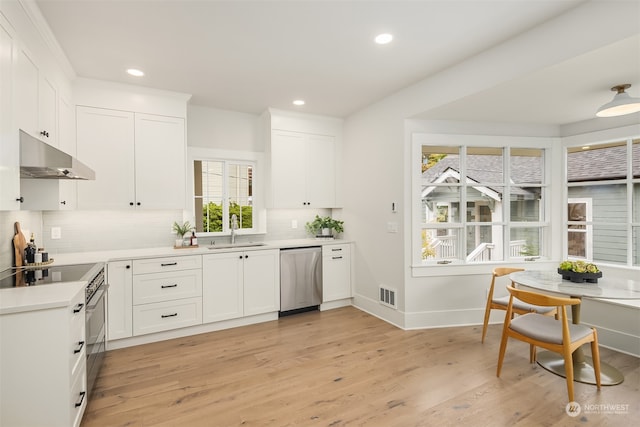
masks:
[[[168,331],[202,323],[202,298],[133,307],[133,335]]]

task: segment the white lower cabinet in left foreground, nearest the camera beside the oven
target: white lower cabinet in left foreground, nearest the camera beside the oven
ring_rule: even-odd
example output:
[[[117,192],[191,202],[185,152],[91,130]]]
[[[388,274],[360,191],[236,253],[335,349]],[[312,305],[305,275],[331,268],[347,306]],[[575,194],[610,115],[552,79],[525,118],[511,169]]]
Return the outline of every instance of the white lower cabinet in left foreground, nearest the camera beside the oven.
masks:
[[[0,425],[79,426],[87,405],[85,290],[66,307],[0,316]]]

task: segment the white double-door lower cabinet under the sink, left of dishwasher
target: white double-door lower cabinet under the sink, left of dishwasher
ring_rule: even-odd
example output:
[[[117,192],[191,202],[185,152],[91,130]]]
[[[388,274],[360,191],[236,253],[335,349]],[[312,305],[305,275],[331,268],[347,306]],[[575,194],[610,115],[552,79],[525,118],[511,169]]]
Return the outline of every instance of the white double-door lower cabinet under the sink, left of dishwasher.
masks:
[[[202,257],[203,322],[280,309],[280,251],[226,252]]]

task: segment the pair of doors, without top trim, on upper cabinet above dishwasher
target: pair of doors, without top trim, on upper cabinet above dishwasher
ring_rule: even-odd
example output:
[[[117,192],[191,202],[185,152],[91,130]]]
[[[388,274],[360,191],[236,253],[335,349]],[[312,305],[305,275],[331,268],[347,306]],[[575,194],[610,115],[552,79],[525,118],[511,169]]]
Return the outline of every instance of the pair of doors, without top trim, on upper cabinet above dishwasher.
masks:
[[[335,206],[334,138],[273,131],[270,188],[277,208]]]

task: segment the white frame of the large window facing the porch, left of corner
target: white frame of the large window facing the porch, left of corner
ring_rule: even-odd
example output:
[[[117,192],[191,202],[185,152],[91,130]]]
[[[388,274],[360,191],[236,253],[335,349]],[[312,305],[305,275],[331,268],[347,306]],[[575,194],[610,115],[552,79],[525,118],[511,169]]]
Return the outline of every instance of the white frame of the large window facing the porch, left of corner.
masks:
[[[437,260],[423,261],[422,260],[422,221],[421,221],[421,198],[416,195],[421,195],[421,160],[422,160],[422,146],[452,146],[452,147],[488,147],[488,148],[535,148],[541,149],[545,152],[544,162],[544,183],[540,185],[543,193],[543,206],[542,206],[542,221],[517,223],[517,225],[511,225],[511,221],[503,220],[500,223],[492,223],[494,226],[502,226],[503,233],[503,248],[508,248],[509,239],[509,227],[538,227],[543,232],[542,244],[540,247],[541,259],[548,259],[551,255],[551,203],[550,203],[550,188],[551,188],[551,162],[549,161],[551,149],[554,143],[557,145],[557,138],[545,138],[545,137],[519,137],[519,136],[495,136],[495,135],[458,135],[458,134],[432,134],[415,132],[411,134],[411,266],[412,274],[414,277],[427,276],[430,274],[431,268],[450,268],[455,266],[477,266],[479,263],[466,263],[463,259],[452,260],[448,264],[438,264]],[[507,159],[507,157],[505,157]],[[506,160],[505,160],[506,161]],[[506,165],[506,173],[509,172],[510,165]],[[465,166],[461,165],[461,169],[464,171]],[[506,175],[508,176],[508,175]],[[505,180],[506,189],[505,194],[510,191],[510,183]],[[469,185],[469,184],[467,184]],[[461,197],[461,209],[462,206],[466,206],[466,198],[464,195]],[[505,206],[505,217],[509,216],[509,204]],[[464,212],[460,213],[464,215]],[[516,224],[516,223],[513,223]],[[452,228],[451,223],[436,224],[434,228]],[[456,226],[460,227],[462,232],[465,231],[464,222]],[[471,224],[473,225],[473,224]],[[505,250],[506,251],[506,250]],[[505,264],[521,262],[522,258],[510,258],[508,251],[506,251],[505,257],[501,261],[490,262],[492,264]],[[462,258],[462,257],[460,257]],[[486,265],[486,264],[483,264]]]

